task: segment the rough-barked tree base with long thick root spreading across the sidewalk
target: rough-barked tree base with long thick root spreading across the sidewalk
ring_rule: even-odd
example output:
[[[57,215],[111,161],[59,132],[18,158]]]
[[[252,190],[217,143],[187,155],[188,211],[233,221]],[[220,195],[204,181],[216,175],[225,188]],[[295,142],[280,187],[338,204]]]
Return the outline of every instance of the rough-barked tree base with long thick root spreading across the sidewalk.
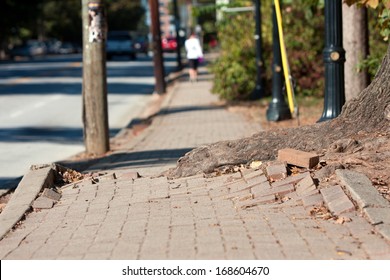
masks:
[[[226,165],[274,159],[282,148],[322,153],[342,149],[342,139],[362,138],[367,133],[390,132],[390,45],[374,81],[359,96],[345,104],[330,121],[299,128],[262,131],[249,138],[223,141],[196,148],[166,172],[168,177],[210,173]]]

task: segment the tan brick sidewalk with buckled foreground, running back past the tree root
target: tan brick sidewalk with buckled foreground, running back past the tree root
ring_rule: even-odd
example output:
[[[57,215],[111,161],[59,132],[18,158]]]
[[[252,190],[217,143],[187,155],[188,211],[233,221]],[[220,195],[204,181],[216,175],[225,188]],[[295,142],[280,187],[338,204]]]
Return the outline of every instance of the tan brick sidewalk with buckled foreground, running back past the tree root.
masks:
[[[390,258],[389,240],[358,208],[341,222],[323,219],[295,193],[241,207],[267,181],[261,169],[158,176],[194,147],[261,131],[221,106],[201,74],[175,83],[151,125],[89,166],[92,177],[62,187],[53,208],[28,213],[0,241],[0,259]]]

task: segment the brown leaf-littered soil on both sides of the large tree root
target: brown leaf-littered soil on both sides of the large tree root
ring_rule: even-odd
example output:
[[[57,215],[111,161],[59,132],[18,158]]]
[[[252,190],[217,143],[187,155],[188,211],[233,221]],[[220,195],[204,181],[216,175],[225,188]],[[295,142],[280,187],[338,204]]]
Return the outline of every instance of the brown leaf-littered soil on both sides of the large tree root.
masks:
[[[321,103],[301,106],[297,119],[269,122],[266,119],[267,104],[244,102],[228,105],[228,110],[242,114],[250,121],[257,121],[264,130],[277,130],[314,124],[322,114]],[[364,173],[378,192],[390,202],[390,134],[358,134],[342,139],[321,151],[321,164],[315,175],[322,184],[336,184],[334,171],[350,169]],[[322,181],[322,182],[321,182]]]

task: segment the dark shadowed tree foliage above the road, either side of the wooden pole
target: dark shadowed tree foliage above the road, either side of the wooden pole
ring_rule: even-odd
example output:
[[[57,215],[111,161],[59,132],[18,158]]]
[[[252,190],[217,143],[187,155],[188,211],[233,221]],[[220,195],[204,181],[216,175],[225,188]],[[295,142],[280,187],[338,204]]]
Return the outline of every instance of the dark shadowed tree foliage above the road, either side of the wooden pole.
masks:
[[[136,30],[145,15],[140,0],[106,0],[110,29]],[[80,0],[0,1],[0,46],[30,38],[81,42]]]

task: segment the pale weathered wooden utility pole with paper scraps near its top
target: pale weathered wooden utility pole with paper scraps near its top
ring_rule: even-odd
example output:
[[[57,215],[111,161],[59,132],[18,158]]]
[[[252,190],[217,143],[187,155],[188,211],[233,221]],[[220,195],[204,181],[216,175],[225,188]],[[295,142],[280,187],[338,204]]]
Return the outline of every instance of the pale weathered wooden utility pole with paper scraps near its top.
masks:
[[[106,15],[101,0],[82,0],[83,22],[83,123],[89,154],[102,155],[109,147]]]

